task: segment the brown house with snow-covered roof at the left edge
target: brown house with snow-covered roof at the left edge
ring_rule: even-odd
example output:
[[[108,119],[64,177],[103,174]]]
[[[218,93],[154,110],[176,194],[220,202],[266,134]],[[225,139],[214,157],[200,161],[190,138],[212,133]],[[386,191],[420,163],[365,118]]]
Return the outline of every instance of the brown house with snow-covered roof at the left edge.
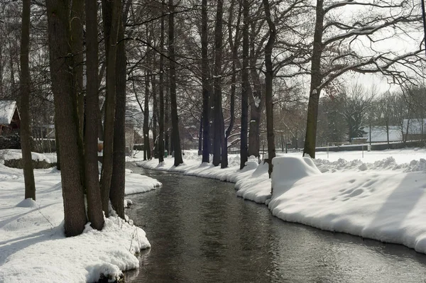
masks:
[[[21,116],[19,116],[16,101],[0,101],[0,135],[19,131],[21,127]]]

